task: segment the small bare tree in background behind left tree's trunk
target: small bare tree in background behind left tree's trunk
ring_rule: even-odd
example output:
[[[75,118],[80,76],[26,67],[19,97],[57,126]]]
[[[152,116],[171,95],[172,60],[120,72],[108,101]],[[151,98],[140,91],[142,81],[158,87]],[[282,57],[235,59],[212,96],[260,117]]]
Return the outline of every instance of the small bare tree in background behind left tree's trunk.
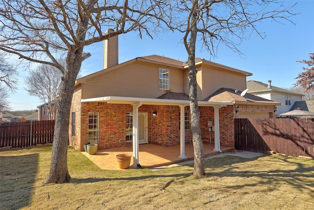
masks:
[[[58,59],[58,62],[65,67],[65,60]],[[57,95],[60,91],[62,73],[61,71],[48,64],[40,64],[34,70],[29,71],[24,81],[28,94],[38,97],[43,103],[47,104],[50,113],[50,120],[55,119],[57,109]]]

